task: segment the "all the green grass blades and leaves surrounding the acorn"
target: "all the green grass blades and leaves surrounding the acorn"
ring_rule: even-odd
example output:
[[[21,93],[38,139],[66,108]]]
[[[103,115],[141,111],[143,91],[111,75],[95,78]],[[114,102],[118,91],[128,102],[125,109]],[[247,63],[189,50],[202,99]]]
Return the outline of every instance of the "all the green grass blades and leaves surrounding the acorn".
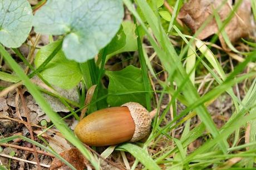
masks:
[[[43,4],[45,2],[46,4]],[[122,153],[129,152],[136,158],[131,169],[138,168],[139,162],[144,169],[160,169],[162,166],[165,169],[254,168],[256,80],[253,62],[256,52],[252,51],[255,50],[256,43],[253,38],[250,41],[243,39],[250,47],[245,48],[248,53],[243,53],[244,46],[239,44],[238,49],[241,51],[239,52],[235,44],[229,41],[225,30],[232,17],[239,16],[236,11],[243,1],[236,1],[227,19],[220,18],[218,9],[212,14],[219,32],[232,50],[229,52],[219,48],[214,48],[215,51],[211,50],[211,47],[215,47],[212,44],[218,36],[214,36],[211,43],[205,43],[195,39],[197,33],[194,36],[188,35],[190,34],[188,27],[181,26],[176,19],[181,5],[188,1],[123,0],[123,2],[130,12],[127,12],[129,13],[127,18],[131,17],[134,19],[133,22],[130,19],[123,21],[124,7],[121,0],[43,0],[33,6],[36,12],[34,20],[27,0],[2,0],[0,43],[6,47],[15,47],[12,50],[32,72],[28,75],[24,74],[23,69],[17,64],[18,58],[11,56],[0,44],[0,63],[2,63],[0,67],[4,66],[0,71],[1,81],[14,83],[14,87],[16,87],[15,83],[19,82],[26,86],[28,92],[51,119],[50,127],[47,127],[48,123],[45,120],[40,122],[42,126],[47,127],[43,133],[55,126],[73,146],[81,151],[95,169],[100,169],[103,160],[95,158],[63,121],[70,116],[78,117],[76,113],[80,113],[85,107],[86,92],[93,85],[96,85],[96,89],[87,106],[87,114],[109,106],[138,102],[149,111],[156,108],[159,115],[153,119],[152,133],[145,143],[111,146],[102,152],[102,157],[109,157],[115,150]],[[253,16],[256,17],[256,3],[253,0],[250,2]],[[164,3],[169,3],[173,8],[171,14]],[[38,9],[42,4],[42,8]],[[30,58],[23,56],[16,48],[26,41],[32,20],[35,31],[50,34],[51,39],[51,43],[46,46],[36,46],[39,48],[35,57],[36,68],[33,67],[34,63],[29,63]],[[202,29],[199,28],[198,32]],[[144,34],[146,41],[142,41]],[[53,42],[53,35],[60,36],[61,41]],[[123,52],[135,52],[129,54],[138,56],[140,68],[127,66],[121,71],[107,71],[108,67],[105,65],[107,60]],[[217,52],[219,56],[215,55]],[[235,58],[237,53],[240,58],[239,64],[232,62],[233,59],[226,60],[226,56]],[[223,54],[225,57],[222,56]],[[94,58],[95,56],[97,57]],[[7,69],[5,66],[8,66]],[[11,73],[9,68],[14,72]],[[107,89],[104,86],[105,82],[102,83],[105,81],[102,77],[105,75],[109,78]],[[29,80],[34,76],[38,76],[48,86],[52,84],[65,89],[73,88],[81,82],[80,103],[52,94],[71,111],[67,116],[60,117],[52,111],[38,91],[38,86]],[[156,85],[154,99],[152,99],[150,82]],[[238,83],[242,86],[238,86]],[[0,87],[0,91],[4,88]],[[8,91],[9,88],[12,86],[7,85],[4,91]],[[240,97],[241,88],[244,95]],[[46,89],[41,91],[51,93]],[[224,122],[222,127],[218,122],[217,127],[216,118],[213,119],[215,113],[210,112],[208,106],[216,98],[222,97],[222,94],[232,99],[230,100],[232,107],[230,107],[230,117],[222,120]],[[163,100],[168,102],[165,103]],[[74,111],[68,103],[80,108]],[[163,104],[166,104],[166,108]],[[200,120],[194,119],[196,116]],[[227,115],[223,113],[223,116]],[[177,134],[179,136],[176,136]],[[244,142],[244,139],[240,140],[244,138],[244,134],[246,134],[245,139],[248,139],[247,142]],[[41,147],[61,159],[71,169],[75,169],[52,149],[26,137],[2,138],[0,143],[17,138]],[[196,143],[200,141],[201,144],[193,151],[190,146],[195,141]],[[14,156],[15,152],[11,152],[10,155]],[[125,157],[124,154],[122,157]],[[238,161],[235,162],[236,160]],[[127,168],[130,166],[125,165]],[[0,169],[6,168],[0,166]]]

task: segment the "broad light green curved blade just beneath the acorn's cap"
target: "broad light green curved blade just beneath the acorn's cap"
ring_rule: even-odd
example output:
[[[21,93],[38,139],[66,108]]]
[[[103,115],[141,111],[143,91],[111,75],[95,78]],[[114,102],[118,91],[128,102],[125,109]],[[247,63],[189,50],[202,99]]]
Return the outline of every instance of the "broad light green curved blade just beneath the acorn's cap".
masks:
[[[125,151],[131,153],[135,158],[137,158],[146,169],[160,169],[159,166],[154,162],[154,160],[140,147],[131,144],[125,143],[118,147],[118,149],[124,149]]]

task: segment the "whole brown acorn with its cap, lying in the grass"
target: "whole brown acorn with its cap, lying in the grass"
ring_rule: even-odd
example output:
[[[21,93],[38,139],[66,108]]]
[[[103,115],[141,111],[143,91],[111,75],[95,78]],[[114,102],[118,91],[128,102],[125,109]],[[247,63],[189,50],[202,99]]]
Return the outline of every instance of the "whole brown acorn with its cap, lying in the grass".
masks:
[[[75,134],[88,146],[136,142],[150,132],[151,117],[154,117],[150,113],[134,102],[101,109],[83,118],[75,127]]]

